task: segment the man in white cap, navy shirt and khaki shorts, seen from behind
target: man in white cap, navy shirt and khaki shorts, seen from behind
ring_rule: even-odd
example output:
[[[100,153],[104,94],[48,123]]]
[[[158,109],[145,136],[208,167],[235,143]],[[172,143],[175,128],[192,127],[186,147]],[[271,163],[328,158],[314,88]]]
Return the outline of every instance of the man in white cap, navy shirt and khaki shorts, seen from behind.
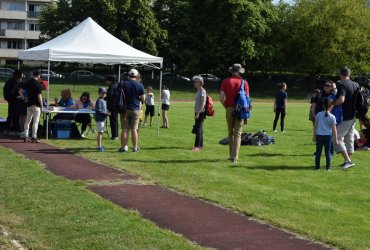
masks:
[[[139,72],[131,69],[128,72],[128,80],[123,81],[123,91],[126,99],[126,112],[121,113],[121,147],[119,152],[128,151],[129,132],[131,131],[131,140],[133,152],[139,151],[138,128],[140,119],[140,102],[144,103],[144,86],[139,79]]]

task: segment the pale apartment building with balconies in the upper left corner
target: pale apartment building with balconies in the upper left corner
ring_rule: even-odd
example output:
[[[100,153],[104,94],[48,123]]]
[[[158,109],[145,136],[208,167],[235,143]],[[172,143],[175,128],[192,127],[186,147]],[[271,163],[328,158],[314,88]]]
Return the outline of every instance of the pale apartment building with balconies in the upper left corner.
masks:
[[[15,64],[18,50],[35,46],[42,4],[55,0],[0,0],[0,65]]]

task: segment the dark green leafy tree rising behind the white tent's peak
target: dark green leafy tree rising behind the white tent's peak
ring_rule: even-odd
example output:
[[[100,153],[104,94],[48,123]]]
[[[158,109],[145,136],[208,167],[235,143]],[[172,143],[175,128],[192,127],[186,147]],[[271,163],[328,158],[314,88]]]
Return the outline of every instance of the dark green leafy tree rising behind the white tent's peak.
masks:
[[[159,27],[150,4],[150,0],[60,0],[43,9],[41,34],[54,38],[91,17],[118,39],[156,55],[166,32]]]

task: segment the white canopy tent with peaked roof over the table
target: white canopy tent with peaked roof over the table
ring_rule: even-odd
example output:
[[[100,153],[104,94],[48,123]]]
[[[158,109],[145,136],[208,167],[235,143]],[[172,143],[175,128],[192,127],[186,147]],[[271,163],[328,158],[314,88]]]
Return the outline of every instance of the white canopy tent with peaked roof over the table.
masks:
[[[18,59],[47,61],[48,71],[50,71],[50,62],[146,65],[160,70],[163,66],[162,57],[149,55],[127,45],[104,30],[90,17],[73,29],[46,43],[31,49],[19,51]],[[159,64],[159,66],[156,66],[156,64]],[[120,70],[121,67],[119,66],[118,77],[120,76]],[[49,76],[50,74],[48,74],[50,89]],[[162,89],[162,70],[160,72],[159,87]],[[47,99],[49,103],[49,90]],[[160,99],[158,101],[158,110],[160,107],[159,105]],[[48,137],[48,133],[46,134]]]

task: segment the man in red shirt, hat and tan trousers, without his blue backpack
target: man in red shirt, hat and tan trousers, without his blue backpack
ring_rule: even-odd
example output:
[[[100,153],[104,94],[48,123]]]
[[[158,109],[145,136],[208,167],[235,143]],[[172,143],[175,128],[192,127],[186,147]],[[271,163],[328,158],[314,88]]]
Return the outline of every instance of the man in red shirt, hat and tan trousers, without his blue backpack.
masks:
[[[243,124],[246,121],[235,117],[233,113],[235,111],[235,99],[243,80],[241,75],[245,72],[245,69],[241,64],[236,63],[229,68],[229,72],[231,76],[224,79],[221,83],[220,102],[226,109],[226,121],[229,131],[229,160],[236,163],[239,157]],[[249,95],[249,85],[246,80],[244,80],[244,89]]]

